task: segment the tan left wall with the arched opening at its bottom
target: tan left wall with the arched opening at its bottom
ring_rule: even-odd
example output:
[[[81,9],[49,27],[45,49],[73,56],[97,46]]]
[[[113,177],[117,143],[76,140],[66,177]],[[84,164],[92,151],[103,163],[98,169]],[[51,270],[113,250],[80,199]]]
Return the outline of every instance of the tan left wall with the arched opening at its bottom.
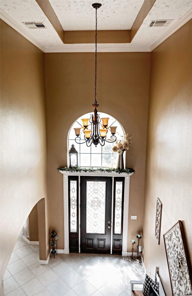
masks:
[[[1,21],[1,277],[46,187],[44,53]]]

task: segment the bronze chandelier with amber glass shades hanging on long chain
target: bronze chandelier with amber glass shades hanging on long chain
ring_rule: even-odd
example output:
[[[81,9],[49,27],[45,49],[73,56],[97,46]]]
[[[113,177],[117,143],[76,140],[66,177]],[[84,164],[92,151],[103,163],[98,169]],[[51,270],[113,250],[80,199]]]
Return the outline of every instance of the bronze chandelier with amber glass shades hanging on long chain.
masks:
[[[101,7],[101,3],[94,3],[92,4],[93,8],[96,9],[95,19],[96,19],[96,26],[95,26],[95,103],[92,104],[94,108],[94,114],[90,114],[90,118],[82,118],[82,131],[84,133],[84,140],[81,142],[81,128],[74,128],[75,131],[75,142],[78,144],[86,143],[89,147],[93,143],[95,147],[98,144],[101,146],[105,145],[105,142],[113,143],[116,141],[116,126],[108,126],[109,118],[100,118],[100,114],[98,114],[97,107],[99,106],[97,102],[97,10]],[[101,123],[102,121],[102,123]],[[91,127],[90,127],[91,124]],[[110,139],[107,139],[108,128],[111,132]]]

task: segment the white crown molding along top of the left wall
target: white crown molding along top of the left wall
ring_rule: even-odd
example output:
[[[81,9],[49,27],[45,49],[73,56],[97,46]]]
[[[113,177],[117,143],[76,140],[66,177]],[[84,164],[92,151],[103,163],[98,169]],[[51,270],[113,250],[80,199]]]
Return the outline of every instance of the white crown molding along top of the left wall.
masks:
[[[34,37],[32,37],[22,26],[20,26],[16,21],[14,21],[6,12],[4,12],[2,9],[0,9],[0,18],[5,23],[7,23],[9,26],[11,26],[13,29],[15,29],[19,34],[21,34],[23,37],[25,37],[27,40],[29,40],[31,43],[33,43],[35,46],[37,46],[42,51],[45,51],[44,46],[39,43],[37,40],[35,40]]]

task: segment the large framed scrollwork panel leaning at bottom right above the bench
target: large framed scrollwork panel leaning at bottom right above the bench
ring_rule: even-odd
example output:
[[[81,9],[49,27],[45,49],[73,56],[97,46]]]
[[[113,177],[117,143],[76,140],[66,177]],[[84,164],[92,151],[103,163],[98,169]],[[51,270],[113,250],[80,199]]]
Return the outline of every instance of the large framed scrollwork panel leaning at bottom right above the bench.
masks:
[[[164,242],[173,295],[191,295],[192,273],[180,220],[164,234]]]

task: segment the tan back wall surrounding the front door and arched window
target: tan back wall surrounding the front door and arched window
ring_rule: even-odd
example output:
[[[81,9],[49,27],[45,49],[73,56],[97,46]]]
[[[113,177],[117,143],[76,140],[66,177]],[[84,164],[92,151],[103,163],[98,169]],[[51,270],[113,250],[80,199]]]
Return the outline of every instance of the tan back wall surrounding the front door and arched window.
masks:
[[[63,178],[57,168],[67,165],[67,134],[73,122],[93,110],[94,53],[45,54],[50,230],[64,248]],[[136,170],[130,181],[128,250],[143,225],[146,133],[150,53],[98,53],[98,108],[115,117],[133,143],[126,167]],[[131,214],[137,220],[131,220]]]

